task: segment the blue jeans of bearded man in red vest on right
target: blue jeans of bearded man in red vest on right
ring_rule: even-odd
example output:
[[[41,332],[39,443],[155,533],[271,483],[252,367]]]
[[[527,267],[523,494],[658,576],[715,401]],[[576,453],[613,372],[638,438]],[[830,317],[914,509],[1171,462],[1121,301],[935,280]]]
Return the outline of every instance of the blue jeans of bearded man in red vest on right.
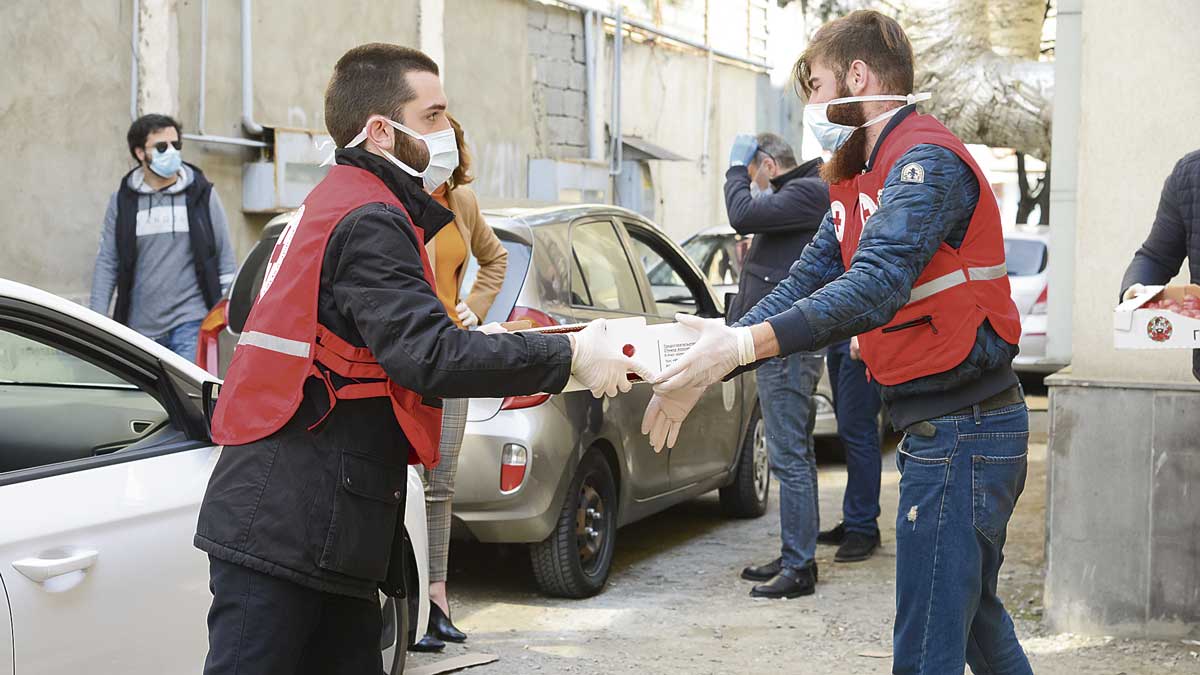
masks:
[[[976,675],[1032,675],[996,596],[1028,438],[1025,404],[940,417],[905,434],[893,673],[962,673],[970,663]]]

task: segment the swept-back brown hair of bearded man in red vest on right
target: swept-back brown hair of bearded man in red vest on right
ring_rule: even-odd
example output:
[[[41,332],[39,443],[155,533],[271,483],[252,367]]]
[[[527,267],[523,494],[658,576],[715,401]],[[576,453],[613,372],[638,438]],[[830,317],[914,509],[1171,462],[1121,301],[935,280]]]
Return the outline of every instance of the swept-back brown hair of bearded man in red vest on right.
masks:
[[[871,67],[887,94],[912,94],[912,43],[895,19],[874,10],[851,12],[817,29],[793,74],[808,96],[814,64],[824,64],[841,82],[856,60]]]

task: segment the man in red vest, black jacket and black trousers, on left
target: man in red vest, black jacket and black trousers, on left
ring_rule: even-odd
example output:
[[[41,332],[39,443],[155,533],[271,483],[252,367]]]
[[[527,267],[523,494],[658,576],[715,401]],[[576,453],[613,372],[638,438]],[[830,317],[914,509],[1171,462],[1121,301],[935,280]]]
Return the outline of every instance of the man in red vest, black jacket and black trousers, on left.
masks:
[[[364,44],[334,68],[336,166],[280,237],[214,413],[206,675],[380,671],[378,593],[404,592],[407,465],[437,465],[442,398],[653,377],[601,321],[570,338],[451,322],[425,252],[454,219],[430,196],[458,163],[445,110],[415,49]]]

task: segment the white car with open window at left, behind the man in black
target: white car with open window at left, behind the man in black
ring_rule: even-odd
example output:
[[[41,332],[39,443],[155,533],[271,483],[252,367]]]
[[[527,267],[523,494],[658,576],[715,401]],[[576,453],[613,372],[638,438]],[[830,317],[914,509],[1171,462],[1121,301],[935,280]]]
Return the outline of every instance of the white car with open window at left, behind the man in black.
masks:
[[[192,534],[221,454],[217,387],[124,325],[0,279],[0,675],[202,669],[211,595]],[[404,526],[420,635],[428,549],[412,467]],[[394,673],[408,604],[384,605]]]

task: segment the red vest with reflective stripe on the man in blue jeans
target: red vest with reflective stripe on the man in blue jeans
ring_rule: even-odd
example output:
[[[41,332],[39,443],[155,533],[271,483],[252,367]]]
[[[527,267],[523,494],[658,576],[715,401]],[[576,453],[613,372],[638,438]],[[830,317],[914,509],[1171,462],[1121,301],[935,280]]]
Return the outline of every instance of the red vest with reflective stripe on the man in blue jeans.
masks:
[[[880,208],[892,166],[920,144],[940,145],[966,162],[979,181],[979,203],[962,245],[954,250],[943,241],[913,283],[908,304],[887,325],[858,336],[869,372],[889,386],[961,364],[974,347],[984,319],[1013,345],[1021,336],[1021,319],[1008,287],[996,197],[962,142],[930,115],[910,114],[883,138],[871,171],[829,186],[829,210],[842,263],[850,269],[863,225]],[[925,178],[918,163],[900,167],[900,172],[901,180],[910,183]]]

